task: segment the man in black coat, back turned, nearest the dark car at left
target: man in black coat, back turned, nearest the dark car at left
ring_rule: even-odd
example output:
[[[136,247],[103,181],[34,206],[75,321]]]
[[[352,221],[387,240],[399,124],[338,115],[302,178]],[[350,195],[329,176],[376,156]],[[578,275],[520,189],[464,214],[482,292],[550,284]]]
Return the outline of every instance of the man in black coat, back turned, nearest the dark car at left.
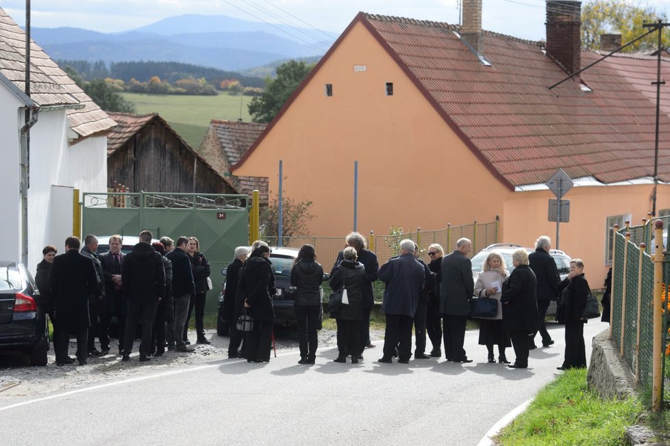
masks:
[[[56,365],[69,363],[69,332],[77,334],[77,360],[86,365],[88,354],[88,296],[98,286],[93,261],[79,254],[79,237],[67,237],[65,253],[53,259],[49,273],[49,288],[55,313],[54,341],[58,343]]]

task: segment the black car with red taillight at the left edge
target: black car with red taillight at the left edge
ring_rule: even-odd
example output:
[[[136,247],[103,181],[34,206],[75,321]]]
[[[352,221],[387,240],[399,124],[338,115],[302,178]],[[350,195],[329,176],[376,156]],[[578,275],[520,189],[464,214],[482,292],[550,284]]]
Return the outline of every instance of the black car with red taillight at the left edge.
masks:
[[[21,262],[0,261],[0,354],[27,354],[47,365],[49,331],[40,293]]]

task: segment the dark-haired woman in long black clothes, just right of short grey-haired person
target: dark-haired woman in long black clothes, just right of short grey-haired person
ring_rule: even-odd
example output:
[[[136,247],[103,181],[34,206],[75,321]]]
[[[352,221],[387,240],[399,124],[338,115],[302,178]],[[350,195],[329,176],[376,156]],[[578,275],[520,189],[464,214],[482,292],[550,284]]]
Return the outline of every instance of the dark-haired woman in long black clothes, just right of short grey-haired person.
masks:
[[[243,293],[247,314],[253,318],[253,329],[247,332],[245,338],[247,363],[270,361],[272,326],[275,322],[272,296],[277,289],[269,257],[267,244],[254,249],[245,263],[238,285],[237,292]]]

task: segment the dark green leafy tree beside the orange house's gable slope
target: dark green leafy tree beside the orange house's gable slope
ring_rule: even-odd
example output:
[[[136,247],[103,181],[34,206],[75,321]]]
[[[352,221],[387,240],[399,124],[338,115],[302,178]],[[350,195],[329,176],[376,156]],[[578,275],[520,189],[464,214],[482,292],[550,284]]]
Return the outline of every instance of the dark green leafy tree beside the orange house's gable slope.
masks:
[[[251,120],[253,122],[273,120],[312,68],[314,68],[313,64],[306,65],[305,62],[295,62],[295,60],[278,66],[275,79],[266,77],[265,92],[262,96],[253,98],[249,102]]]

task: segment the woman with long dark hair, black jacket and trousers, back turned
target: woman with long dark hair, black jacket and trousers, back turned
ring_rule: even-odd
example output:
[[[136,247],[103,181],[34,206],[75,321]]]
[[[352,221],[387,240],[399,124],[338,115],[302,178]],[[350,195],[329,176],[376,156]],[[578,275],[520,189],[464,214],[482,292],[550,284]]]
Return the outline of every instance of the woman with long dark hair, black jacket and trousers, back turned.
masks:
[[[303,245],[290,270],[290,284],[295,287],[293,308],[300,345],[298,364],[314,364],[317,357],[322,282],[323,267],[317,262],[317,252],[314,246]]]

